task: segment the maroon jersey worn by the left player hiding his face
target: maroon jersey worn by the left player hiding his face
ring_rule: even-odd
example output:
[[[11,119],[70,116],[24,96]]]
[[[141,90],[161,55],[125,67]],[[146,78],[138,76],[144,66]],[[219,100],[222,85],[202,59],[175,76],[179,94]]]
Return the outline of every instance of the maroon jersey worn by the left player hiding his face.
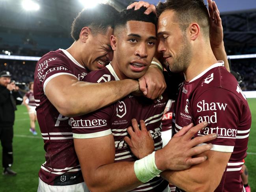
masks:
[[[83,182],[83,178],[75,153],[69,118],[60,114],[50,103],[45,95],[45,86],[59,75],[71,75],[82,80],[88,72],[88,69],[63,49],[51,51],[37,62],[34,97],[46,151],[46,162],[41,166],[39,177],[49,185],[73,185]]]

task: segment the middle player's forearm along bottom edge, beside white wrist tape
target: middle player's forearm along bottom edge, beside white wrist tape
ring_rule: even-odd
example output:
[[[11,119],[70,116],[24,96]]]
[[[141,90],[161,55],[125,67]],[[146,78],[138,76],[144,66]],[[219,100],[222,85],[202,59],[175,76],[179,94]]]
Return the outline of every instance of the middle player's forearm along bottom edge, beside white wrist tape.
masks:
[[[117,162],[100,166],[84,180],[93,192],[126,192],[142,185],[134,172],[134,162]],[[88,171],[87,171],[88,172]]]

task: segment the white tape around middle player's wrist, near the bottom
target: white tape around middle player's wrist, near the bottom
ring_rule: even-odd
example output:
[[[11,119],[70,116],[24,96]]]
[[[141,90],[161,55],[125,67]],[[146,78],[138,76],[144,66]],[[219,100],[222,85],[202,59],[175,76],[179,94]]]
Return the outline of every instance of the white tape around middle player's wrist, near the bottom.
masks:
[[[139,181],[146,183],[162,172],[155,164],[155,151],[148,156],[136,160],[134,163],[135,175]]]

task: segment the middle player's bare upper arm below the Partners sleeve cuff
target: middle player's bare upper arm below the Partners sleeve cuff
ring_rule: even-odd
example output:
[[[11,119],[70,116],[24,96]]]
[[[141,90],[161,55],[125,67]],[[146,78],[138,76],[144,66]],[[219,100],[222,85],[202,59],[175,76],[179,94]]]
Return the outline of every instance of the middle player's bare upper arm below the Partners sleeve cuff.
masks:
[[[93,175],[100,166],[114,163],[115,143],[112,134],[88,139],[74,138],[74,144],[85,180],[90,179],[89,175]]]

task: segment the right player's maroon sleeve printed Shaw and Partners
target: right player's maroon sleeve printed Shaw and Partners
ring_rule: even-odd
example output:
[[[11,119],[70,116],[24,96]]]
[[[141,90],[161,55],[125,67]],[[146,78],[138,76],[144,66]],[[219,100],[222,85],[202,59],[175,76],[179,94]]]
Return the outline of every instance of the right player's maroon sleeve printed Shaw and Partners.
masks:
[[[237,128],[243,102],[234,93],[213,88],[202,93],[192,102],[192,118],[196,124],[207,121],[206,128],[196,136],[216,133],[217,138],[207,143],[213,144],[213,151],[232,153],[237,137]]]

